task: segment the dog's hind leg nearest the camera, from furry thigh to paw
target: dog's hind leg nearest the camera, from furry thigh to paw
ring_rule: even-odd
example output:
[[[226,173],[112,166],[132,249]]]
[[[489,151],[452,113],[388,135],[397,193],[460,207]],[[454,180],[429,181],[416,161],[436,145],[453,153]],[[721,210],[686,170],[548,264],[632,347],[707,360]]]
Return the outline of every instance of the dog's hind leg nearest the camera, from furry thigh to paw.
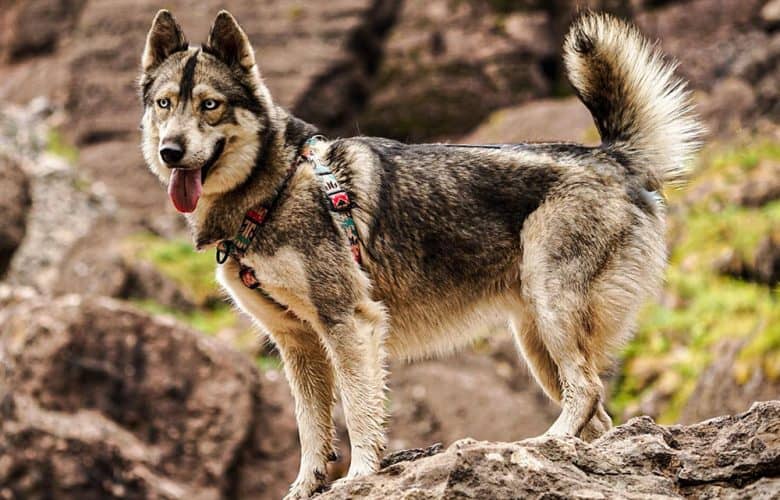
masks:
[[[655,210],[608,187],[577,189],[526,220],[521,296],[560,380],[561,414],[547,434],[580,435],[595,415],[583,435],[593,438],[611,426],[599,372],[657,290],[665,247]]]

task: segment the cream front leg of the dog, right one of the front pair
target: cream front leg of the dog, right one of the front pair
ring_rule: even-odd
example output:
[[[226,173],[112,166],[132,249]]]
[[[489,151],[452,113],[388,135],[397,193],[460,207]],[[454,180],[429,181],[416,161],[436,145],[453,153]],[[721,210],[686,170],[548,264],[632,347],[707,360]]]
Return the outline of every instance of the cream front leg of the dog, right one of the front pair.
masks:
[[[366,299],[323,332],[351,442],[348,478],[376,472],[385,448],[385,329],[382,308]]]

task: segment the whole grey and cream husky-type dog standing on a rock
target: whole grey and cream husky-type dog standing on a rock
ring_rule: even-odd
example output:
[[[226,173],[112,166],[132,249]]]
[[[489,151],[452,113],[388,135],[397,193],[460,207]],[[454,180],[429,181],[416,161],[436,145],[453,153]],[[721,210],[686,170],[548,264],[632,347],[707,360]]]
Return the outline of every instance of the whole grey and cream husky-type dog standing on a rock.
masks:
[[[508,320],[560,404],[547,435],[610,428],[599,374],[660,288],[662,190],[684,178],[702,127],[674,65],[624,21],[581,14],[564,62],[599,146],[328,140],[274,104],[230,13],[199,47],[170,12],[155,17],[143,154],[196,248],[217,246],[221,286],[278,347],[301,443],[287,498],[325,486],[337,393],[347,477],[376,472],[387,358],[450,352],[484,318]],[[323,168],[347,211],[323,192]]]

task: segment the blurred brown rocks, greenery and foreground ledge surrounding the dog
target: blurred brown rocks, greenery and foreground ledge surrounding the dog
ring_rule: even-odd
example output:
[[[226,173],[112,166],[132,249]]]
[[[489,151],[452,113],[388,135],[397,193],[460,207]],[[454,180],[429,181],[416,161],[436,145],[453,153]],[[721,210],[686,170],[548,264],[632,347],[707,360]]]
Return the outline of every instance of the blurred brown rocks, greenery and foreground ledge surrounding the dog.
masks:
[[[667,193],[667,287],[608,375],[611,414],[693,423],[780,399],[777,0],[164,6],[193,41],[228,7],[276,99],[334,136],[594,143],[560,62],[577,4],[659,38],[710,131]],[[141,159],[135,78],[162,6],[0,0],[0,498],[277,498],[295,476],[278,361]],[[592,445],[498,443],[556,409],[488,327],[452,359],[394,366],[390,385],[390,449],[449,448],[331,496],[780,495],[777,404],[634,419]],[[452,444],[465,437],[480,442]]]

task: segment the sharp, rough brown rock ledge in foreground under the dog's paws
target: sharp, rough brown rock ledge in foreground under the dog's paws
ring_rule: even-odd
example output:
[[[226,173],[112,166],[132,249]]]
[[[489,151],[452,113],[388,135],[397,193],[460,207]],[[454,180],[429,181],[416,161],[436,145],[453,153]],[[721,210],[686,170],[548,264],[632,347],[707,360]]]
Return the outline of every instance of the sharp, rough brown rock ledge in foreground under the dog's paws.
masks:
[[[777,498],[780,401],[691,426],[635,418],[593,443],[465,439],[445,452],[340,481],[347,498]]]

